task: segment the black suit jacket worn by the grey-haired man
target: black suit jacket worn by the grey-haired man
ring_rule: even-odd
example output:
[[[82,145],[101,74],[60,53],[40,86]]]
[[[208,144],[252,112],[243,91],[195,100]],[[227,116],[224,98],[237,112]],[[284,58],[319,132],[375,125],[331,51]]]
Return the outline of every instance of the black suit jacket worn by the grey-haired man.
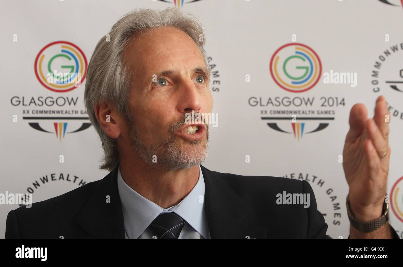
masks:
[[[211,238],[330,238],[307,181],[201,169]],[[6,238],[124,239],[117,171],[118,166],[101,180],[10,211]],[[310,207],[276,204],[283,191],[309,193]]]

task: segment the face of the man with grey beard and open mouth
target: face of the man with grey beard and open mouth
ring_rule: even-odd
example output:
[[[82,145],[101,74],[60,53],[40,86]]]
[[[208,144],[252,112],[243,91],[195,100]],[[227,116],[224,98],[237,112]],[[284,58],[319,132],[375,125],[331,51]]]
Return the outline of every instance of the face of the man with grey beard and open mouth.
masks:
[[[186,113],[211,113],[213,106],[197,44],[185,32],[163,27],[137,34],[124,56],[133,75],[128,121],[133,149],[164,169],[201,164],[208,154],[208,123],[199,124],[195,134],[183,131],[189,126]]]

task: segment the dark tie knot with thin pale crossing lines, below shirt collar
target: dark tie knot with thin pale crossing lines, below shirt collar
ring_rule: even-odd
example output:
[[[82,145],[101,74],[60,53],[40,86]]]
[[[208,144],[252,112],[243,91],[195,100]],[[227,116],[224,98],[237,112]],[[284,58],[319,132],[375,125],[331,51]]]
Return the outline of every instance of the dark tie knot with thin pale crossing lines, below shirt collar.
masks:
[[[178,239],[185,220],[176,213],[161,213],[152,221],[150,227],[158,239]]]

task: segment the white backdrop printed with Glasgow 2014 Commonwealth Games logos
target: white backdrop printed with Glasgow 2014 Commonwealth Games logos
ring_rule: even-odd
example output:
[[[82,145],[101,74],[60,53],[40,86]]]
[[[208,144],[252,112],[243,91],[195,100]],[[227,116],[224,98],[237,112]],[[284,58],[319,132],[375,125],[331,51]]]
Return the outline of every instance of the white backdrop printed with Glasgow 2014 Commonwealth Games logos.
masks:
[[[392,113],[388,178],[393,207],[391,225],[403,238],[403,195],[399,191],[403,186],[403,180],[399,180],[403,176],[403,85],[399,83],[403,81],[403,8],[400,0],[386,2],[185,0],[177,5],[204,23],[206,50],[215,71],[210,88],[213,112],[219,114],[218,127],[210,127],[210,152],[204,165],[226,173],[307,179],[314,189],[318,209],[328,223],[328,234],[332,238],[347,238],[348,186],[339,155],[348,131],[349,110],[353,104],[362,102],[372,117],[375,100],[383,94]],[[1,2],[0,101],[4,120],[0,193],[33,192],[33,201],[37,202],[107,174],[98,169],[103,150],[93,127],[71,133],[89,122],[86,114],[81,114],[85,110],[85,79],[81,86],[68,92],[54,92],[43,86],[35,65],[42,48],[56,41],[68,42],[82,51],[81,59],[85,56],[89,61],[98,40],[125,13],[135,8],[164,9],[174,5],[173,1],[161,0]],[[319,79],[304,92],[290,92],[277,84],[278,77],[287,79],[281,63],[276,69],[277,76],[270,73],[270,69],[274,71],[270,59],[276,50],[290,43],[293,44],[276,54],[280,55],[280,62],[303,48],[312,55],[316,53],[316,57],[310,58],[321,64],[321,68],[317,65],[310,69],[317,71]],[[55,46],[43,53],[52,56],[60,49],[60,44]],[[303,75],[304,71],[295,67],[309,66],[308,61],[293,58],[287,67],[288,74]],[[376,62],[380,63],[378,67],[374,67]],[[80,64],[85,67],[84,61]],[[372,76],[374,70],[378,71],[374,75],[378,77]],[[322,75],[330,71],[357,73],[356,86],[324,83]],[[41,105],[40,99],[45,98],[48,105]],[[56,98],[52,104],[50,100]],[[77,99],[77,103],[64,104],[66,99]],[[255,105],[255,99],[261,99],[262,106]],[[294,99],[294,104],[287,106],[288,99]],[[312,105],[299,105],[303,99],[312,100]],[[269,100],[273,104],[266,105]],[[74,110],[77,114],[37,114],[62,110]],[[287,110],[300,112],[294,124],[295,134],[290,114],[272,114]],[[313,113],[301,113],[308,111]],[[54,123],[60,124],[55,128]],[[304,130],[298,131],[302,123]],[[327,126],[309,133],[320,123]],[[60,136],[60,129],[65,129],[64,136]],[[59,162],[60,155],[64,156],[64,163]],[[247,155],[250,162],[245,160]],[[44,177],[48,177],[47,182]],[[4,238],[8,212],[17,207],[17,204],[0,204],[0,238]]]

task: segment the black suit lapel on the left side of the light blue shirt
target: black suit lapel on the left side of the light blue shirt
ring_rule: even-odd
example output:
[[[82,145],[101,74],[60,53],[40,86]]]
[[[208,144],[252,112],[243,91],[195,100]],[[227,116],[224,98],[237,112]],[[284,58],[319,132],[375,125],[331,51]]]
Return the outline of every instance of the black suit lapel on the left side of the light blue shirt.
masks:
[[[77,217],[77,223],[90,235],[87,238],[125,238],[125,226],[117,184],[118,166],[94,188]],[[109,203],[107,196],[110,199]]]

